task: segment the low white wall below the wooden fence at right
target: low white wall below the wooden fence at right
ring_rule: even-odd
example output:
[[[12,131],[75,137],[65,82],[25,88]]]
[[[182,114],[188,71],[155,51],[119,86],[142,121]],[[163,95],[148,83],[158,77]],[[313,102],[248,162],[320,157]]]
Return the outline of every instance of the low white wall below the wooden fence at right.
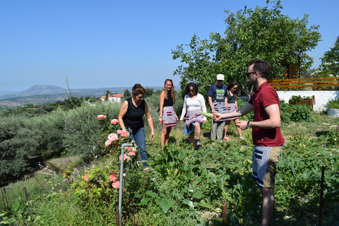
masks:
[[[314,95],[316,99],[316,105],[313,105],[313,109],[316,112],[326,110],[325,105],[329,100],[333,100],[339,97],[339,91],[277,91],[279,99],[285,100],[288,104],[288,100],[292,96],[312,97]]]

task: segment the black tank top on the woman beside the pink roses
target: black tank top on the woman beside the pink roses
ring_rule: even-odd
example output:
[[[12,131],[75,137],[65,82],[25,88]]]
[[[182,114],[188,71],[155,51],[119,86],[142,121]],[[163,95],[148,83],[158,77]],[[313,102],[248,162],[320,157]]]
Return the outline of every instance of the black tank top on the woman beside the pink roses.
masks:
[[[132,97],[126,99],[129,104],[127,112],[123,118],[126,129],[138,130],[143,128],[143,115],[145,114],[145,100],[141,102],[139,107],[136,107],[132,103]]]

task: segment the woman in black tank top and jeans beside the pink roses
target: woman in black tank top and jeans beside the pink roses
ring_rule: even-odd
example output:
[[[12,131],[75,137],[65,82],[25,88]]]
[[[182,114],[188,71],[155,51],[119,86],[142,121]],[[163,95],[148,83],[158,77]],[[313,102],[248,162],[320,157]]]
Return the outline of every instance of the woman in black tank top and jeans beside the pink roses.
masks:
[[[148,124],[150,125],[150,139],[154,139],[153,120],[150,116],[147,102],[143,100],[146,90],[140,84],[136,84],[132,89],[132,97],[126,99],[121,105],[119,112],[119,124],[123,131],[131,134],[131,139],[134,138],[136,145],[139,147],[139,153],[143,167],[148,167],[147,150],[145,143],[145,128],[143,127],[143,115],[145,114]]]

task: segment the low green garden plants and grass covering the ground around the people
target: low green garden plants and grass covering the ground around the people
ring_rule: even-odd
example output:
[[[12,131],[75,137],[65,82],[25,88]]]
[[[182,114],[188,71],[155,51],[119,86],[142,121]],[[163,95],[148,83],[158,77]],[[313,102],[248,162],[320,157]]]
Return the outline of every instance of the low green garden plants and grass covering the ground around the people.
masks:
[[[321,164],[327,167],[323,223],[338,220],[335,208],[338,208],[339,195],[331,184],[338,185],[335,170],[338,174],[339,165],[335,160],[339,154],[338,143],[331,133],[336,130],[339,119],[326,114],[312,116],[313,122],[281,126],[287,146],[283,165],[278,166],[277,205],[272,225],[316,225]],[[164,167],[160,131],[155,132],[154,141],[146,134],[148,154],[155,165],[148,172],[141,168],[131,170],[133,177],[128,180],[133,183],[130,190],[126,190],[128,194],[124,194],[132,197],[130,206],[125,207],[131,212],[124,213],[124,225],[221,225],[225,199],[229,203],[227,225],[259,225],[256,219],[261,218],[261,200],[251,179],[251,131],[243,131],[246,139],[240,140],[232,123],[227,134],[231,141],[214,143],[209,139],[207,125],[201,136],[203,147],[194,150],[182,132],[183,126],[172,129],[166,149],[172,158]],[[107,167],[109,160],[106,160],[99,158],[88,165],[79,163],[70,179],[83,180],[88,169]],[[65,169],[65,165],[61,168]],[[55,171],[26,177],[2,191],[6,194],[1,195],[0,207],[8,216],[8,225],[11,218],[16,220],[16,225],[117,224],[115,203],[103,206],[84,203],[74,195],[69,181]],[[145,198],[148,198],[147,205],[141,203]]]

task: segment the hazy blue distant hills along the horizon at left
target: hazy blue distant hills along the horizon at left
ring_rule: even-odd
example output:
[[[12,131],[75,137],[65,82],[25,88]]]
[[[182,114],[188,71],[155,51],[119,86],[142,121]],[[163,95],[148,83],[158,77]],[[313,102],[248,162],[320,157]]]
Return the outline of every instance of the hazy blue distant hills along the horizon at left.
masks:
[[[153,88],[162,90],[162,86],[146,86],[145,88]],[[112,94],[122,94],[128,89],[132,92],[132,87],[114,87],[114,88],[86,88],[86,89],[71,89],[66,90],[56,85],[33,85],[23,92],[2,93],[0,94],[0,105],[3,107],[22,107],[27,104],[42,105],[44,103],[56,102],[65,100],[69,95],[75,97],[102,97],[109,90]]]

